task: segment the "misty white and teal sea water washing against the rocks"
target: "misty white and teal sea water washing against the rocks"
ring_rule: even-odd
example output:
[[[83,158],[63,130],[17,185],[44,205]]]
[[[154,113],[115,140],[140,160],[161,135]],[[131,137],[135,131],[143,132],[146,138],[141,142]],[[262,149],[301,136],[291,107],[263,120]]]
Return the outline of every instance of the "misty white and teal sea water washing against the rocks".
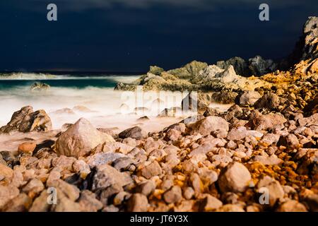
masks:
[[[30,105],[44,109],[52,119],[53,129],[74,123],[85,117],[99,128],[118,131],[129,126],[144,126],[147,131],[159,131],[181,118],[158,119],[158,114],[170,107],[180,107],[187,93],[131,93],[115,91],[118,82],[130,83],[139,76],[125,75],[52,75],[11,73],[0,76],[0,126],[10,121],[13,112]],[[49,90],[32,91],[35,82],[50,85]],[[138,96],[138,97],[137,97]],[[160,99],[160,105],[156,103]],[[147,115],[147,124],[137,121]]]

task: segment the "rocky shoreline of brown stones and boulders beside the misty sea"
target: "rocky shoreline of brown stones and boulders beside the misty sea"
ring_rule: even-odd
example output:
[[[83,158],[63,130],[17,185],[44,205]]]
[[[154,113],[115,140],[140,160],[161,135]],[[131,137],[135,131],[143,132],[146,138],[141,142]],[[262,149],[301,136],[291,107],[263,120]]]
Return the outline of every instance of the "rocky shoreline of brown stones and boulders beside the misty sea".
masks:
[[[198,115],[159,132],[134,126],[118,134],[81,118],[54,140],[3,150],[0,210],[317,211],[317,17],[305,24],[302,41],[279,64],[193,61],[119,83],[117,90],[198,91],[196,102],[192,93],[185,98]],[[211,102],[232,107],[219,112]],[[28,106],[0,133],[51,129],[46,112]]]

